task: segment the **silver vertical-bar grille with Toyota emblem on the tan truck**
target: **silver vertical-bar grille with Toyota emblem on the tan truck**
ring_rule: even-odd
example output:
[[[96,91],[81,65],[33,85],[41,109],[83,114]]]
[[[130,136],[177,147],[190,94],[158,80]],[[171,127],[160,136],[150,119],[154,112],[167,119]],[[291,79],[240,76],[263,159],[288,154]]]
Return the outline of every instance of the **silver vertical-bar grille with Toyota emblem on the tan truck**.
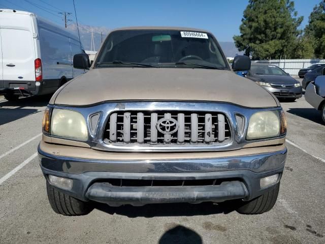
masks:
[[[103,139],[113,145],[225,145],[231,135],[222,113],[118,111],[110,114]]]

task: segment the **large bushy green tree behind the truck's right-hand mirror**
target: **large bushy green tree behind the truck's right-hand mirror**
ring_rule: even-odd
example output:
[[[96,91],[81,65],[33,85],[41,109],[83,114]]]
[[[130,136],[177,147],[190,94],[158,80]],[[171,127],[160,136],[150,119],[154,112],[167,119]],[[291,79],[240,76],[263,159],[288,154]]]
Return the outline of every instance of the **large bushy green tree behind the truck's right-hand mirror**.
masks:
[[[280,58],[302,33],[302,21],[293,1],[249,0],[235,45],[253,59]]]

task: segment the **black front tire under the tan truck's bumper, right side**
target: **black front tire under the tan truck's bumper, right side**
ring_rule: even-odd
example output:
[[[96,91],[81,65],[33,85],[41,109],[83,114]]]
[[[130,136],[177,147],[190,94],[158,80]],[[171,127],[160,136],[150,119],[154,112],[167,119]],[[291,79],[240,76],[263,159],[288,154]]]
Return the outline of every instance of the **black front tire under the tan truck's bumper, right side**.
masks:
[[[258,215],[272,209],[279,194],[280,183],[271,191],[256,197],[248,202],[241,201],[240,206],[236,209],[240,214]]]

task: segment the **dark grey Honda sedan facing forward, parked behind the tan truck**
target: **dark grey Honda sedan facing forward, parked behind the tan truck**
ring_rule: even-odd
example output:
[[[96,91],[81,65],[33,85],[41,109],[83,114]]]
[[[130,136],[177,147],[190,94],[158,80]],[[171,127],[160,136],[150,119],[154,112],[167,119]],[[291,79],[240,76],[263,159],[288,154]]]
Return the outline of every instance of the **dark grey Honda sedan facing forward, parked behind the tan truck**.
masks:
[[[275,65],[252,63],[246,78],[263,86],[277,98],[295,101],[303,93],[300,82]]]

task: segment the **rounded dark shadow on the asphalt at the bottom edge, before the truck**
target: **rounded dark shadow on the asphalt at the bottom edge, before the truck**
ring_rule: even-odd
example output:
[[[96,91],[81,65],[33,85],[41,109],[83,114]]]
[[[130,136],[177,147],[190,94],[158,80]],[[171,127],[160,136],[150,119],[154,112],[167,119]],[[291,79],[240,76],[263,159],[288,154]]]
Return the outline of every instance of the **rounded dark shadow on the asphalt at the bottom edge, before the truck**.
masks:
[[[184,226],[177,225],[166,231],[159,239],[159,244],[201,244],[203,243],[201,236]]]

